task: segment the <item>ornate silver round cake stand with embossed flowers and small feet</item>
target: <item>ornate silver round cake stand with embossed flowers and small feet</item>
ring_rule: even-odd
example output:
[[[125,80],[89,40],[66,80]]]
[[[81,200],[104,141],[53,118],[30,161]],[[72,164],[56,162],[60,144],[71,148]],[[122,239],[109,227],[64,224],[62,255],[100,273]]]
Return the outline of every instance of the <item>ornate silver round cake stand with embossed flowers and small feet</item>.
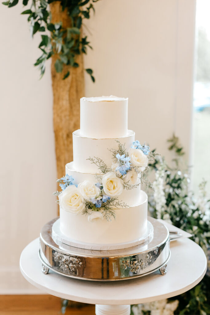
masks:
[[[116,250],[81,249],[66,244],[62,247],[52,239],[48,222],[40,233],[39,257],[43,273],[49,269],[61,275],[94,281],[115,281],[145,276],[156,270],[166,274],[170,258],[169,232],[161,222],[148,218],[154,227],[154,237],[147,242]]]

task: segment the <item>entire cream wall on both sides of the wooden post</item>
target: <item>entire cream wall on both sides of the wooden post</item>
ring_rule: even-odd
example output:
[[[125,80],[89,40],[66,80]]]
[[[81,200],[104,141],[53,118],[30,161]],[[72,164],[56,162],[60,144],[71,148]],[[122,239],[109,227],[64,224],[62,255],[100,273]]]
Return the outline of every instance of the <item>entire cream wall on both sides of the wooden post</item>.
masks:
[[[96,83],[86,76],[86,96],[128,96],[136,139],[168,156],[175,131],[189,152],[195,0],[102,0],[95,9],[85,65]],[[39,81],[38,38],[30,40],[21,10],[0,9],[2,294],[37,292],[19,256],[56,216],[50,69]]]

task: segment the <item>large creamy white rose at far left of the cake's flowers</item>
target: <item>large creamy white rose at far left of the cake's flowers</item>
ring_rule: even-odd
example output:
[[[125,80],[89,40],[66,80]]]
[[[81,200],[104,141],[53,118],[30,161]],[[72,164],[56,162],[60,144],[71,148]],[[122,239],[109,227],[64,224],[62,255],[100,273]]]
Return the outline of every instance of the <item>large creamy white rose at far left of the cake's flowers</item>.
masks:
[[[67,212],[79,214],[85,209],[79,189],[74,185],[67,186],[58,198],[60,207]]]

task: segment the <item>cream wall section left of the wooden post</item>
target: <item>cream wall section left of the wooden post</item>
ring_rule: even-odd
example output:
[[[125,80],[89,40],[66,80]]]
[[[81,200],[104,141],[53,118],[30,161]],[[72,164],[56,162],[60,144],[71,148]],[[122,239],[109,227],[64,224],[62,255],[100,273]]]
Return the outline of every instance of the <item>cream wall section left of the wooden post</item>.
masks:
[[[20,253],[57,215],[50,67],[39,81],[22,10],[0,4],[1,294],[41,292],[21,275]]]

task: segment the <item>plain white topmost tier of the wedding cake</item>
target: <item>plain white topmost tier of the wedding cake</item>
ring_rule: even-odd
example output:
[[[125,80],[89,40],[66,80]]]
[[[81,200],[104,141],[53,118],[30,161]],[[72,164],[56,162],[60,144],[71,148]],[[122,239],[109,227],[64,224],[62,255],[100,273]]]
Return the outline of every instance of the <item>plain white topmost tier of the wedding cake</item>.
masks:
[[[118,138],[128,134],[128,98],[80,99],[80,133],[90,138]]]

